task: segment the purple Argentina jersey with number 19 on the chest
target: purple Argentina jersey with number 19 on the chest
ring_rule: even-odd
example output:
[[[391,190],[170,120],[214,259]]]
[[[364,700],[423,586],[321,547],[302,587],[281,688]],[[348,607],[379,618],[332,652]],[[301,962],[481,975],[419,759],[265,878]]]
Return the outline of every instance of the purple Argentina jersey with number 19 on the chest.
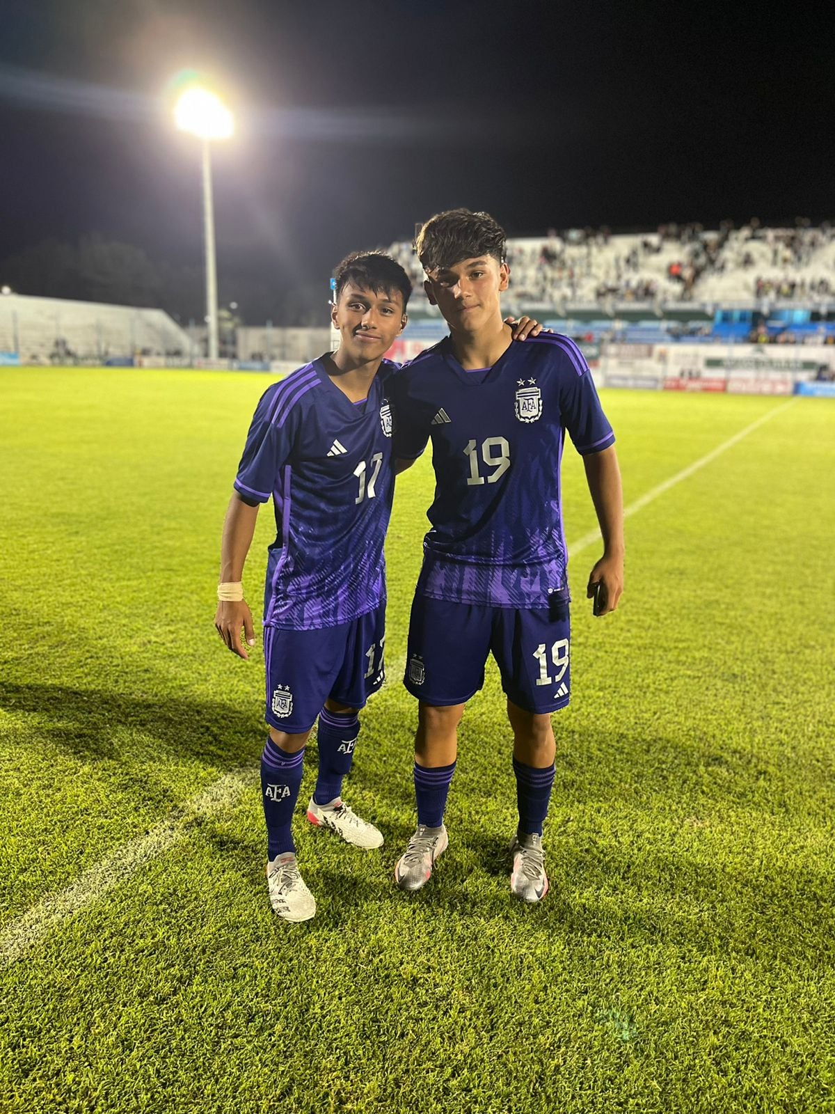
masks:
[[[500,607],[568,599],[560,461],[615,442],[582,353],[568,336],[513,342],[464,371],[445,338],[393,385],[395,458],[432,438],[435,498],[418,593]]]

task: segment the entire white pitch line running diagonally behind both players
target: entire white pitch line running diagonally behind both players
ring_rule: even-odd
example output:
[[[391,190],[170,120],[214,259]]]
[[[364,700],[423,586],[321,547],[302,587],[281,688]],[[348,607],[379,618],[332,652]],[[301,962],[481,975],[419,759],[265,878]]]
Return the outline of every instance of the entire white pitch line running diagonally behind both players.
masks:
[[[700,457],[694,463],[688,465],[687,468],[682,468],[680,472],[676,472],[675,476],[657,485],[657,487],[650,488],[646,495],[642,495],[625,508],[623,517],[629,518],[630,515],[635,515],[646,507],[647,504],[657,499],[659,495],[664,495],[665,491],[669,491],[670,488],[680,483],[681,480],[686,480],[688,476],[692,476],[694,472],[704,468],[705,465],[709,465],[711,460],[715,460],[726,449],[741,441],[744,437],[753,433],[755,429],[758,429],[778,413],[783,413],[795,401],[795,399],[792,399],[782,407],[775,407],[774,410],[769,410],[762,418],[752,422],[750,426],[746,426],[745,429],[729,437],[727,441],[723,441],[721,444],[711,449],[710,452]],[[569,557],[574,557],[599,539],[600,530],[592,530],[589,534],[584,534],[573,545],[569,546]],[[405,659],[397,659],[395,668],[391,671],[386,670],[385,684],[389,683],[389,677],[394,680],[394,677],[402,675],[404,664]],[[230,808],[250,781],[250,774],[246,771],[238,770],[224,774],[223,778],[219,778],[208,789],[186,801],[176,815],[157,824],[147,836],[143,836],[141,839],[134,840],[118,848],[116,851],[111,851],[101,862],[86,870],[67,889],[45,897],[28,912],[24,912],[22,917],[19,917],[7,926],[2,936],[0,936],[0,969],[10,967],[19,959],[22,959],[31,948],[40,944],[61,921],[73,917],[85,906],[91,905],[104,897],[115,886],[131,878],[144,863],[158,858],[176,843],[179,843],[186,834],[186,825],[190,815],[213,817]]]

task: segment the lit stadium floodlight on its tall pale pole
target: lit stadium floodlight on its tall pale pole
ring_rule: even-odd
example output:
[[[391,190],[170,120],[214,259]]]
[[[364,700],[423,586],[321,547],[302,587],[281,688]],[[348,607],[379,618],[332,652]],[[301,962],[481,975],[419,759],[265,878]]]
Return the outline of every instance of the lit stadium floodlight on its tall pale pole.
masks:
[[[206,247],[206,324],[208,355],[216,360],[217,344],[217,262],[215,253],[215,213],[212,201],[212,156],[209,144],[228,139],[235,130],[232,113],[209,89],[191,85],[184,89],[174,108],[178,130],[197,136],[203,147],[203,226]]]

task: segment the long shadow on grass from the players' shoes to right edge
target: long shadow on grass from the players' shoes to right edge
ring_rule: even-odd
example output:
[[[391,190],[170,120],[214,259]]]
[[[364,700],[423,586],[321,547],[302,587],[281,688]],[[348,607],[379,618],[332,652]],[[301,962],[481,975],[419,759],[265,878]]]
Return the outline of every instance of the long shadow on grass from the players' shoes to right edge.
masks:
[[[547,900],[529,906],[510,893],[504,840],[487,833],[453,842],[423,889],[400,892],[393,869],[407,834],[405,825],[395,824],[386,828],[382,849],[360,852],[328,833],[306,830],[297,818],[299,863],[318,902],[311,930],[338,931],[371,917],[372,924],[393,920],[402,930],[411,924],[410,931],[430,938],[451,918],[448,926],[455,930],[468,922],[518,928],[531,947],[546,951],[570,940],[602,950],[628,940],[637,948],[685,949],[809,973],[835,961],[831,879],[807,864],[782,863],[775,871],[763,862],[706,861],[658,846],[630,856],[610,842],[589,853],[564,839],[551,847]],[[259,833],[242,839],[206,820],[200,836],[269,919]]]

